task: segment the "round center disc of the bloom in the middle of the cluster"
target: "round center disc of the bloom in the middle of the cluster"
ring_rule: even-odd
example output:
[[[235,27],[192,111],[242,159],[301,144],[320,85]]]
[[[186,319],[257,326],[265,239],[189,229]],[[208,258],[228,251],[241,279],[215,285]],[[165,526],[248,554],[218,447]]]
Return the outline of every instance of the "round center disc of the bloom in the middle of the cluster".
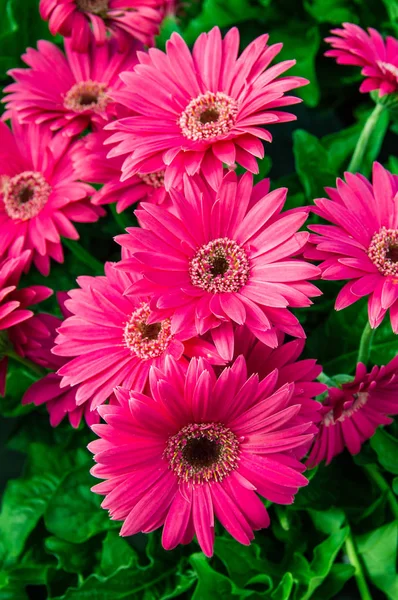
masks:
[[[207,292],[237,292],[250,273],[246,252],[228,238],[218,238],[202,246],[189,265],[192,285]]]

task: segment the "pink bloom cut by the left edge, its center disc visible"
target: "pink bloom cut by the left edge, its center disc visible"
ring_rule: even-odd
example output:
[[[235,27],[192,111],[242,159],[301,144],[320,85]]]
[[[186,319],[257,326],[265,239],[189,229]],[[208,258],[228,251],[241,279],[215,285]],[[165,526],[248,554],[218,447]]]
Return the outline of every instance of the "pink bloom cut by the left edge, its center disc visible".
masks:
[[[50,258],[64,260],[61,236],[79,238],[72,222],[93,223],[103,209],[91,206],[94,188],[76,181],[72,155],[80,142],[53,138],[48,128],[16,118],[12,126],[11,132],[0,122],[0,256],[22,238],[22,248],[33,251],[31,260],[48,275]]]

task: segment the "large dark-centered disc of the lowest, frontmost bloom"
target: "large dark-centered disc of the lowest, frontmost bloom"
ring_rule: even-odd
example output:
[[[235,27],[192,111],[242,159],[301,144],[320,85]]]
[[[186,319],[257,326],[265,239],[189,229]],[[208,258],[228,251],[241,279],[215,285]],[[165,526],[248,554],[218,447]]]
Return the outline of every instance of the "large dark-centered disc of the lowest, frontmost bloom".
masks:
[[[221,481],[236,469],[239,442],[221,423],[192,423],[168,439],[163,457],[183,481]]]

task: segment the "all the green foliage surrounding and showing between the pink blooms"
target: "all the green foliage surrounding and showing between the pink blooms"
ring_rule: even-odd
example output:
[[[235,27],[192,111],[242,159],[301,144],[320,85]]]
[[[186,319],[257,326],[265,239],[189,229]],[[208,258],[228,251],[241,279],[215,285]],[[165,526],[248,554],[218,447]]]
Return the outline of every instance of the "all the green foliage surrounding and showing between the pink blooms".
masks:
[[[323,38],[344,21],[373,26],[398,36],[397,0],[204,0],[183,3],[177,18],[161,31],[162,47],[172,31],[189,44],[214,25],[237,25],[242,48],[269,32],[284,42],[282,59],[296,58],[294,71],[311,80],[299,93],[298,121],[273,129],[259,178],[289,187],[288,206],[310,204],[347,166],[364,121],[372,109],[358,92],[357,69],[325,59]],[[38,0],[0,0],[0,79],[21,66],[20,55],[38,39],[50,39],[38,15]],[[59,38],[55,39],[62,43]],[[387,128],[389,133],[384,139]],[[397,123],[381,120],[366,156],[369,174],[376,157],[398,173]],[[100,272],[98,261],[117,259],[112,237],[132,215],[115,220],[110,212],[98,225],[81,226],[81,250],[68,244],[66,263],[49,278],[30,273],[26,282],[56,290],[74,287],[82,273]],[[324,296],[298,314],[308,332],[307,355],[317,357],[328,375],[352,374],[366,306],[333,310],[339,284],[323,284]],[[45,310],[55,312],[55,301]],[[397,353],[388,322],[376,332],[371,362],[384,364]],[[219,532],[215,556],[206,559],[196,543],[165,552],[156,532],[121,539],[119,524],[108,519],[90,492],[94,480],[86,445],[87,428],[66,424],[52,430],[45,410],[22,407],[32,375],[12,367],[7,396],[0,401],[1,484],[0,600],[168,600],[169,598],[251,598],[252,600],[328,600],[359,598],[349,564],[347,540],[353,535],[373,598],[398,598],[396,573],[398,521],[391,506],[398,494],[398,426],[379,430],[361,454],[344,454],[328,467],[310,472],[311,482],[293,506],[270,506],[271,527],[256,534],[250,547]]]

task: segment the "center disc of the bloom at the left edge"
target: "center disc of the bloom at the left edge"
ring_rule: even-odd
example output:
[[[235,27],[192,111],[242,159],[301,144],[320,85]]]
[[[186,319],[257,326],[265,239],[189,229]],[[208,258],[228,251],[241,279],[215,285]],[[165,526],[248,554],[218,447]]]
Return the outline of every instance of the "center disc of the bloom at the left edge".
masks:
[[[41,173],[24,171],[4,181],[3,202],[11,219],[28,221],[46,204],[51,186]]]

